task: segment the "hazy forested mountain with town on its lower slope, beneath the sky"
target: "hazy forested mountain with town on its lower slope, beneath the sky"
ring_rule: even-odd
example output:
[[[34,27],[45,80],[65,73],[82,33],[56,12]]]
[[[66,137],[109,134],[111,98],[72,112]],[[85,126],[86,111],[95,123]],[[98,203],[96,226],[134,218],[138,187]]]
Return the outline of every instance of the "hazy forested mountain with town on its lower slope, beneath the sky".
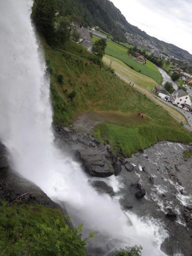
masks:
[[[156,56],[164,54],[169,58],[191,62],[192,55],[173,44],[158,40],[147,35],[144,31],[130,24],[120,10],[109,0],[59,0],[61,15],[76,15],[82,24],[99,26],[112,36],[126,39],[133,45],[149,50]]]

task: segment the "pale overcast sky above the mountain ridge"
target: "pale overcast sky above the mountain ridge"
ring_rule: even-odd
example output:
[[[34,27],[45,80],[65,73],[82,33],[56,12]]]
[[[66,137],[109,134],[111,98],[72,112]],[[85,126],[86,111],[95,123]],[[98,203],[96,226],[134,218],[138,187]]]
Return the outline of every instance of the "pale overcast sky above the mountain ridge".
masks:
[[[127,21],[192,54],[192,0],[111,0]]]

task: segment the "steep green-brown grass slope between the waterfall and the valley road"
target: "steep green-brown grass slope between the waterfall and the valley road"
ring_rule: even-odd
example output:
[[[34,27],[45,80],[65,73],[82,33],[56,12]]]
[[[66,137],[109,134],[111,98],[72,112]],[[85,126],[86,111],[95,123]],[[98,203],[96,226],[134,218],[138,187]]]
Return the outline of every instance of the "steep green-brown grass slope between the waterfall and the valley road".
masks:
[[[98,65],[91,65],[89,61],[61,54],[45,42],[44,49],[48,68],[52,70],[51,98],[55,123],[66,125],[87,110],[107,113],[100,114],[104,124],[96,127],[95,134],[113,146],[120,145],[118,148],[124,154],[151,146],[158,140],[192,142],[191,134],[181,128],[166,110],[105,68],[99,69]],[[92,57],[73,41],[66,43],[62,49],[87,60]],[[63,75],[63,84],[57,82],[57,74]],[[76,91],[76,97],[69,101],[72,90]],[[145,113],[144,120],[137,118],[138,111]],[[116,121],[112,122],[114,115]],[[124,122],[120,121],[122,117]]]

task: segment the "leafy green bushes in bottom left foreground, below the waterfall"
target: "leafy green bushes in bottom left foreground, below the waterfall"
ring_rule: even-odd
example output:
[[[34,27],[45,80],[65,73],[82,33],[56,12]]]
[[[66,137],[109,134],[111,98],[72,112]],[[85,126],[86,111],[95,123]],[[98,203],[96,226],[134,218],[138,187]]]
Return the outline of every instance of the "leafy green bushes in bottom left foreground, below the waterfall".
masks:
[[[85,256],[82,225],[70,229],[62,213],[36,203],[3,202],[0,207],[0,252],[3,256]],[[92,234],[91,234],[92,236]]]

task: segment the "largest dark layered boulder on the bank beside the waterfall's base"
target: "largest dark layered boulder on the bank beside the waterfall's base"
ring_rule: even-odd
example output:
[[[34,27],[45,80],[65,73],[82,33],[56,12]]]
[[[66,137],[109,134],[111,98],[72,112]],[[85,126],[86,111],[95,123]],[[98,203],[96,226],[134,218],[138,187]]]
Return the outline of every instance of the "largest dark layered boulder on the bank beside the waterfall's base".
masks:
[[[113,167],[97,148],[76,150],[75,159],[82,163],[84,170],[91,176],[104,178],[114,174]]]

